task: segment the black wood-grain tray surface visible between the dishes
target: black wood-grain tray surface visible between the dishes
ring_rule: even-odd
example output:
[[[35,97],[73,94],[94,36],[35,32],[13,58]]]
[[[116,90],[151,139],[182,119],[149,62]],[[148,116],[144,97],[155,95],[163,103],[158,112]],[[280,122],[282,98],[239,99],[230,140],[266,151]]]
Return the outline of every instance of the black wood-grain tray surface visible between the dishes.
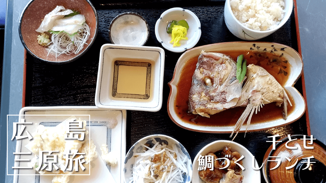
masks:
[[[150,37],[145,46],[161,47],[155,36],[155,23],[160,15],[172,7],[182,7],[194,12],[201,23],[201,37],[197,46],[243,41],[230,33],[224,22],[225,1],[92,1],[99,18],[99,31],[92,47],[78,60],[66,64],[50,64],[26,55],[25,106],[95,106],[95,89],[99,62],[99,50],[103,44],[111,43],[109,25],[113,18],[124,12],[136,12],[143,16],[150,27]],[[295,9],[294,9],[295,10]],[[265,38],[257,41],[275,42],[298,51],[298,41],[294,10],[285,25]],[[182,53],[165,49],[163,81],[163,104],[158,112],[127,110],[126,151],[139,139],[151,134],[165,134],[177,139],[190,154],[192,161],[198,151],[215,140],[231,140],[230,134],[211,134],[185,130],[177,126],[167,112],[170,88],[168,82]],[[294,85],[303,94],[305,90],[301,77]],[[268,136],[279,134],[307,134],[304,114],[299,120],[282,127],[269,130],[239,133],[234,140],[246,147],[256,158],[259,166],[266,150],[272,145]],[[260,170],[261,171],[261,170]],[[261,181],[265,182],[261,171]]]

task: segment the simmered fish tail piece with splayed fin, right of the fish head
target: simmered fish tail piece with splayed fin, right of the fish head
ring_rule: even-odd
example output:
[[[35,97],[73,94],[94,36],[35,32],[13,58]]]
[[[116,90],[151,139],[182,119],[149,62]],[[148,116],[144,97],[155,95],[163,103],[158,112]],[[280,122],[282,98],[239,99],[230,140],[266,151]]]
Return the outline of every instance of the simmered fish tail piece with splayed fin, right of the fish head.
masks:
[[[264,104],[275,102],[277,106],[283,104],[283,118],[287,119],[287,105],[292,106],[284,88],[277,80],[269,74],[264,68],[250,64],[247,66],[247,80],[242,88],[241,97],[236,106],[246,106],[244,112],[234,126],[231,136],[235,133],[233,139],[237,136],[240,128],[247,120],[248,130],[251,118],[254,112],[260,110]]]

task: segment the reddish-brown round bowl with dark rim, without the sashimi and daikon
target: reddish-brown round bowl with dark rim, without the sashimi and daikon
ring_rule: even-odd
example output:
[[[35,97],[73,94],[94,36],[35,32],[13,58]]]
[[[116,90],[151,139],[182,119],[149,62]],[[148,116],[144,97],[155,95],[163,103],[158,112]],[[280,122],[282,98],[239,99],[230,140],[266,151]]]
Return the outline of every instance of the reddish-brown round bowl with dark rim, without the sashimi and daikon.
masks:
[[[37,43],[35,30],[40,26],[44,16],[51,12],[57,5],[66,9],[79,11],[85,16],[86,23],[90,28],[90,37],[87,44],[78,54],[61,54],[55,58],[55,54],[48,54],[48,48]],[[81,57],[93,44],[98,32],[98,16],[96,10],[89,0],[31,0],[22,12],[19,22],[19,37],[25,49],[34,57],[50,63],[68,63]]]

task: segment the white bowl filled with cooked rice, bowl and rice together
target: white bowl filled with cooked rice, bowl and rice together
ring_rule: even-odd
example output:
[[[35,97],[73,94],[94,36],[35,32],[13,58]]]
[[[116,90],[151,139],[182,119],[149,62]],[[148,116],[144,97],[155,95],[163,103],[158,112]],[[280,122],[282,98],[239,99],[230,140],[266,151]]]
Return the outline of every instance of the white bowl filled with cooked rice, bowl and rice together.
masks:
[[[240,39],[266,37],[288,21],[293,0],[226,0],[224,21]]]

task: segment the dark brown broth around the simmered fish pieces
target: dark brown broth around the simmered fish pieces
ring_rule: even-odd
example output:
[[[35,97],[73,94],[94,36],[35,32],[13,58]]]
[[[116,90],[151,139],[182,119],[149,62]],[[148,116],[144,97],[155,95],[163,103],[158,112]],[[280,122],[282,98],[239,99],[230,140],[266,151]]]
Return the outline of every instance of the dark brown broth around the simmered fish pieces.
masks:
[[[244,59],[247,60],[247,65],[255,64],[266,69],[275,79],[282,85],[288,80],[290,72],[290,64],[287,60],[273,53],[258,52],[258,51],[243,51],[232,50],[223,51],[236,61],[238,55],[244,54]],[[185,66],[181,72],[180,81],[177,84],[177,95],[175,98],[175,112],[184,122],[200,126],[234,126],[240,118],[245,107],[235,107],[227,109],[220,113],[211,115],[210,118],[202,117],[200,115],[188,112],[188,96],[192,83],[192,75],[195,72],[198,56],[186,61]],[[288,105],[288,115],[294,110],[294,101],[292,96],[288,94],[292,106]],[[260,123],[264,121],[283,119],[283,106],[278,107],[275,102],[264,105],[260,108],[257,114],[254,114],[251,119],[251,124]]]

